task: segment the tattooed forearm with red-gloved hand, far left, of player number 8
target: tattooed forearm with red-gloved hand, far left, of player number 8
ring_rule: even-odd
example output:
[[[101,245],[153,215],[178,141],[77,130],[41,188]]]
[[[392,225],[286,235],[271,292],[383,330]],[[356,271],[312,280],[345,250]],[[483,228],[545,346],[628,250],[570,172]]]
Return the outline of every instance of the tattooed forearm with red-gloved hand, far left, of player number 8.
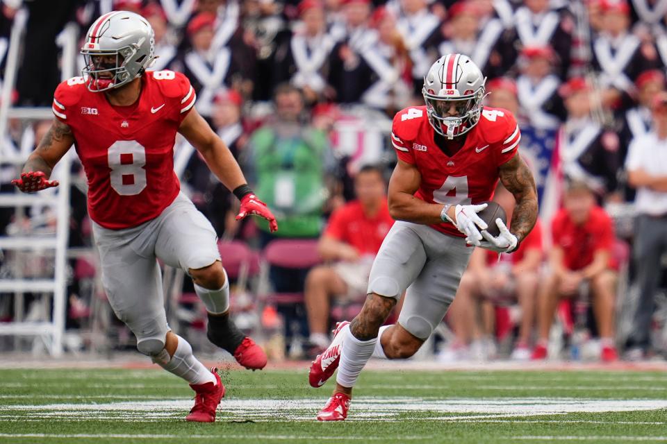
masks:
[[[58,182],[56,180],[49,180],[51,171],[73,143],[72,129],[65,123],[53,119],[51,128],[44,135],[35,151],[28,157],[21,178],[12,180],[12,183],[24,193],[34,193],[45,188],[57,187]]]

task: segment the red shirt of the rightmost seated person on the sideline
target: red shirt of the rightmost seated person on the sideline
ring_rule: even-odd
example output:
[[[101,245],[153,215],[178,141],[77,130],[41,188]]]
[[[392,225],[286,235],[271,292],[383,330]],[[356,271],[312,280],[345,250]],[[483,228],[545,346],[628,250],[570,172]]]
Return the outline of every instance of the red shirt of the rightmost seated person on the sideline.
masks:
[[[591,264],[596,251],[612,253],[614,248],[614,222],[598,206],[591,209],[584,225],[575,225],[566,210],[559,210],[552,219],[551,232],[554,246],[563,249],[566,268],[573,271]],[[609,267],[618,267],[614,257],[609,258]]]

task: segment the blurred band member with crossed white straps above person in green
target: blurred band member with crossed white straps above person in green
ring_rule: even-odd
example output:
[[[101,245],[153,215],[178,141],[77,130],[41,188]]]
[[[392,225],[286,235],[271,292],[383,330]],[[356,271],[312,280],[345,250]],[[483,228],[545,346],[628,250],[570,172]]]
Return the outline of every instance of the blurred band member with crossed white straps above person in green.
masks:
[[[308,103],[315,103],[334,95],[327,85],[327,71],[336,40],[327,33],[324,6],[319,0],[302,0],[298,11],[302,26],[277,51],[274,84],[290,81],[302,89]]]

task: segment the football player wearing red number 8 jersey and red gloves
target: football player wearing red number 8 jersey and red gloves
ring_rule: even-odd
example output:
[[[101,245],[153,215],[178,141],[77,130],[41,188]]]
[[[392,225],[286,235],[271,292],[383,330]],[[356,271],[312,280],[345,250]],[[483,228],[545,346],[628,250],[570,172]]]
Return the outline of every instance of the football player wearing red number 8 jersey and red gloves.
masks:
[[[147,71],[154,34],[146,19],[114,11],[95,21],[81,53],[83,77],[60,83],[56,119],[14,183],[24,192],[55,187],[51,170],[74,144],[88,178],[88,212],[115,314],[137,337],[137,348],[190,383],[195,407],[188,420],[213,422],[224,386],[215,369],[192,355],[170,331],[158,258],[183,268],[208,311],[208,339],[246,368],[266,365],[263,350],[229,319],[229,282],[215,231],[181,193],[174,173],[174,141],[181,133],[220,181],[240,199],[237,219],[257,214],[277,230],[227,146],[199,116],[183,74]]]

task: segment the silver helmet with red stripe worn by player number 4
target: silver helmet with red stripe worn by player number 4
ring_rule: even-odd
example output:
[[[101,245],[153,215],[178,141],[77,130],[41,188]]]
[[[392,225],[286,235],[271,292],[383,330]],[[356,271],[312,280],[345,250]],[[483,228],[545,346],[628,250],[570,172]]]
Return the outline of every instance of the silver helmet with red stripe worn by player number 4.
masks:
[[[447,54],[431,65],[424,78],[429,122],[437,133],[454,139],[477,125],[486,77],[463,54]],[[455,111],[455,112],[454,112]]]

